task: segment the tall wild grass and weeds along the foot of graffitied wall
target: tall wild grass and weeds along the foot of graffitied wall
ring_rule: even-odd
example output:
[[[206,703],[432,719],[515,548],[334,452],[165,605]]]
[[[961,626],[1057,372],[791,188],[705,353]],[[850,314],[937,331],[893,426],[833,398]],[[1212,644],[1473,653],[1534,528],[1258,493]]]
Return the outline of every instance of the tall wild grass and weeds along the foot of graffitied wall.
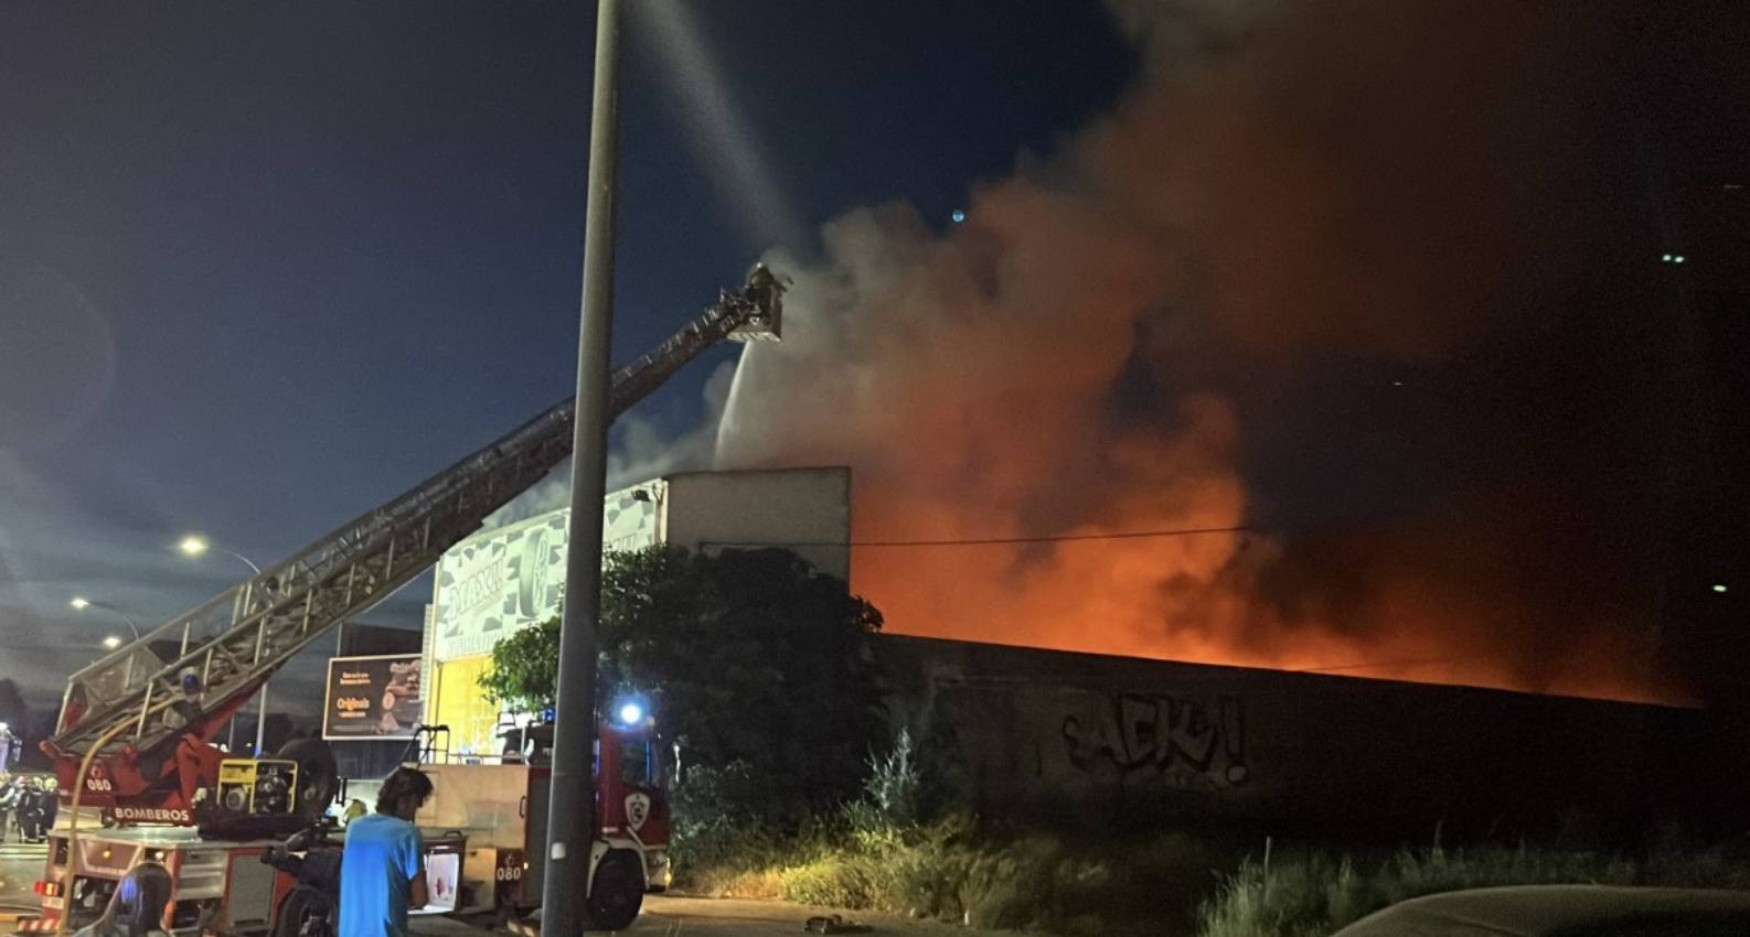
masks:
[[[920,820],[929,792],[906,734],[870,769],[859,799],[791,830],[695,787],[679,804],[693,809],[677,811],[677,886],[1073,937],[1323,937],[1405,899],[1491,885],[1750,888],[1750,843],[1699,848],[1676,832],[1633,860],[1530,844],[1444,850],[1437,832],[1418,850],[1292,846],[1265,867],[1246,858],[1255,839],[1216,827],[1073,836],[980,829],[957,813]],[[751,780],[719,774],[712,783],[730,790]]]

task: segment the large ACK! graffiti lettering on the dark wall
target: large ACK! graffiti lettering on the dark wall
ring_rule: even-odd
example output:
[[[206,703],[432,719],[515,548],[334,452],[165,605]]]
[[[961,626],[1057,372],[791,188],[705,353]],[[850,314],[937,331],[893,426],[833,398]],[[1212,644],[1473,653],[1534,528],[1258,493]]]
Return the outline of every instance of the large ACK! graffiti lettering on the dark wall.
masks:
[[[1246,713],[1239,699],[1122,694],[1064,717],[1069,762],[1082,771],[1104,764],[1153,771],[1171,787],[1227,790],[1251,780],[1246,766]]]

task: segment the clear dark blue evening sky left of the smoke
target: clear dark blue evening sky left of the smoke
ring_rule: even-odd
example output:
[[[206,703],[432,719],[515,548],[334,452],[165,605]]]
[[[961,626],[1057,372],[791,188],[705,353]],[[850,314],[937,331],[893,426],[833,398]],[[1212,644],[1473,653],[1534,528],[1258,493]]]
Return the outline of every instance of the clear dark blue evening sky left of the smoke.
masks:
[[[774,236],[947,224],[1134,68],[1094,2],[681,0],[705,59],[628,7],[616,358]],[[0,678],[40,698],[116,629],[70,594],[161,621],[242,572],[182,531],[266,563],[569,392],[592,16],[0,5]],[[732,191],[702,61],[777,191]],[[642,414],[693,423],[730,353]]]

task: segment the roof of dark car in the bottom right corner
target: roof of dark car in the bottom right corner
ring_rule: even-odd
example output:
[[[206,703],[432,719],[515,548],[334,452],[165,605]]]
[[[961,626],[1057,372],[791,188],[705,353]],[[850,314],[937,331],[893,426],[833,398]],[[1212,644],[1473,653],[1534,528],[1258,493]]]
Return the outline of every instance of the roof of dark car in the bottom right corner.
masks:
[[[1750,937],[1750,892],[1516,885],[1398,902],[1332,937]]]

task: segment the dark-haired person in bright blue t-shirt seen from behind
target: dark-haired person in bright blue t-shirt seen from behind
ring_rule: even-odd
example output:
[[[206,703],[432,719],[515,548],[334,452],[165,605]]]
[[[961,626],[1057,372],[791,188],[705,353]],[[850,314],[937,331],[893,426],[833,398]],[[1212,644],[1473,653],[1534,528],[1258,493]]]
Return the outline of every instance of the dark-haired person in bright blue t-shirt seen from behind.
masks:
[[[408,937],[408,909],[425,907],[425,844],[413,815],[432,781],[411,767],[383,780],[376,813],[346,823],[340,862],[340,935]]]

